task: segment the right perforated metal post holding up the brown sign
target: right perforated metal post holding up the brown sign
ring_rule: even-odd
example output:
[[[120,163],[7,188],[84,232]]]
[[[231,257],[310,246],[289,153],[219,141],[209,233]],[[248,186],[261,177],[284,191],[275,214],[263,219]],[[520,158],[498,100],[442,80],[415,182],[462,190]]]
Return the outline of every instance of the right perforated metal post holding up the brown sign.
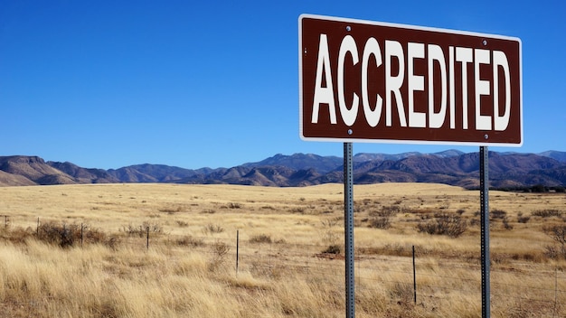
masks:
[[[479,200],[481,204],[482,318],[489,318],[489,178],[487,146],[479,147]]]

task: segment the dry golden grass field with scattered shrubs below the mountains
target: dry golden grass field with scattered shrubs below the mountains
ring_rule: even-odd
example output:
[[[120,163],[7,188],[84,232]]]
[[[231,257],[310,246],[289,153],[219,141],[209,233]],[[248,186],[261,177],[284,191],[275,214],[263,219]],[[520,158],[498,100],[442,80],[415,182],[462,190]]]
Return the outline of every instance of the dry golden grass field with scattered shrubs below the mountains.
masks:
[[[343,317],[343,192],[0,188],[0,316]],[[479,192],[382,183],[354,201],[357,317],[481,317]],[[490,210],[492,316],[566,316],[566,195],[490,192]]]

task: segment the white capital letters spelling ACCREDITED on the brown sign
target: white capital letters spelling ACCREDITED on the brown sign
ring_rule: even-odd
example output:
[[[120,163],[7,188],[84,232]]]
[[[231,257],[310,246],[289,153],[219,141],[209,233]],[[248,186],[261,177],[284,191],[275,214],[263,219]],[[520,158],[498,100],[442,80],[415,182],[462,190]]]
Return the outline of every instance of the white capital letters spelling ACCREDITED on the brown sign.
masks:
[[[320,34],[318,43],[317,62],[316,62],[316,83],[313,101],[313,112],[311,123],[316,124],[319,119],[321,107],[328,107],[329,120],[331,124],[337,123],[337,111],[335,100],[335,89],[337,89],[337,104],[340,110],[340,116],[347,126],[354,126],[357,120],[360,108],[360,97],[354,93],[352,100],[345,100],[344,94],[344,69],[354,66],[362,59],[361,73],[361,95],[363,117],[369,126],[375,127],[382,122],[382,108],[385,108],[385,126],[392,126],[393,117],[393,99],[396,105],[396,112],[399,117],[399,123],[403,127],[428,127],[439,128],[444,126],[448,120],[450,129],[456,129],[457,125],[461,125],[462,129],[468,129],[469,118],[467,93],[468,93],[468,75],[467,66],[473,65],[474,79],[473,85],[475,94],[475,120],[476,130],[495,130],[505,131],[509,125],[509,116],[511,109],[511,76],[509,71],[509,63],[504,51],[490,51],[486,49],[468,48],[449,46],[448,59],[442,48],[435,43],[408,42],[406,52],[403,51],[401,42],[385,40],[380,44],[375,38],[370,37],[364,43],[362,55],[357,49],[355,39],[351,35],[346,35],[340,44],[337,59],[330,58],[328,50],[328,37],[326,34]],[[382,54],[383,52],[383,54]],[[346,56],[350,54],[352,57],[352,65],[347,65]],[[368,70],[370,59],[373,59],[377,68],[384,67],[384,85],[385,96],[379,94],[376,96],[375,105],[370,105],[370,97],[368,93]],[[399,71],[392,73],[391,65],[393,59],[399,65]],[[414,71],[414,61],[425,60],[428,66],[427,75],[418,75]],[[448,61],[448,62],[447,62]],[[337,63],[337,74],[332,74],[331,63]],[[349,64],[349,63],[348,63]],[[384,65],[383,65],[384,64]],[[439,79],[434,80],[435,64],[439,66]],[[480,74],[481,65],[491,65],[493,72],[491,79],[482,79]],[[405,78],[405,67],[407,68],[407,78]],[[461,72],[461,91],[462,100],[456,100],[456,80],[455,69],[460,68]],[[503,79],[500,78],[499,70],[503,71]],[[337,76],[336,88],[333,86],[333,76]],[[324,77],[324,81],[323,81]],[[428,83],[428,105],[427,112],[416,111],[414,93],[424,91],[425,80]],[[491,83],[490,83],[491,80]],[[406,82],[408,88],[408,100],[403,100],[401,94],[401,86]],[[325,85],[324,85],[325,83]],[[499,83],[503,83],[505,92],[500,92]],[[440,97],[435,101],[434,87],[440,86]],[[490,87],[493,87],[491,91]],[[505,96],[503,113],[500,114],[500,94]],[[491,95],[493,100],[493,117],[491,115],[481,114],[481,97]],[[383,105],[383,101],[385,102]],[[407,114],[405,114],[405,102],[407,103]],[[435,105],[439,105],[438,111],[435,111]],[[462,122],[456,122],[456,108],[461,107]],[[428,120],[427,120],[428,119]],[[383,125],[383,124],[382,124]]]

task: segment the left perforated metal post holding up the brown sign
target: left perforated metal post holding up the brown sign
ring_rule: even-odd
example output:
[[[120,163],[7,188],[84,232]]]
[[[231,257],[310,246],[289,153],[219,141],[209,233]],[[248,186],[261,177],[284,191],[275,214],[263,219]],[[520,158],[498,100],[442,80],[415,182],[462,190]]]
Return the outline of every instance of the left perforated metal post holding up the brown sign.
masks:
[[[346,318],[354,318],[354,168],[352,164],[352,143],[344,143],[344,248]]]

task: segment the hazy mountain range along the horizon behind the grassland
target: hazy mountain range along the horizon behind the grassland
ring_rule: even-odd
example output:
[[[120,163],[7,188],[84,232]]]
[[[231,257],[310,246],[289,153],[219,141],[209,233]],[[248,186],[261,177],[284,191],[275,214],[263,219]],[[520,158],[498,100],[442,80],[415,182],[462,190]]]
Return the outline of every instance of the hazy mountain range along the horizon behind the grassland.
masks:
[[[354,183],[434,182],[479,186],[479,154],[448,150],[435,154],[355,154]],[[170,182],[307,186],[343,182],[343,158],[317,154],[276,154],[231,168],[184,169],[164,164],[137,164],[119,169],[82,168],[68,162],[45,162],[38,156],[0,156],[0,186]],[[566,185],[566,152],[489,153],[488,175],[495,188]]]

